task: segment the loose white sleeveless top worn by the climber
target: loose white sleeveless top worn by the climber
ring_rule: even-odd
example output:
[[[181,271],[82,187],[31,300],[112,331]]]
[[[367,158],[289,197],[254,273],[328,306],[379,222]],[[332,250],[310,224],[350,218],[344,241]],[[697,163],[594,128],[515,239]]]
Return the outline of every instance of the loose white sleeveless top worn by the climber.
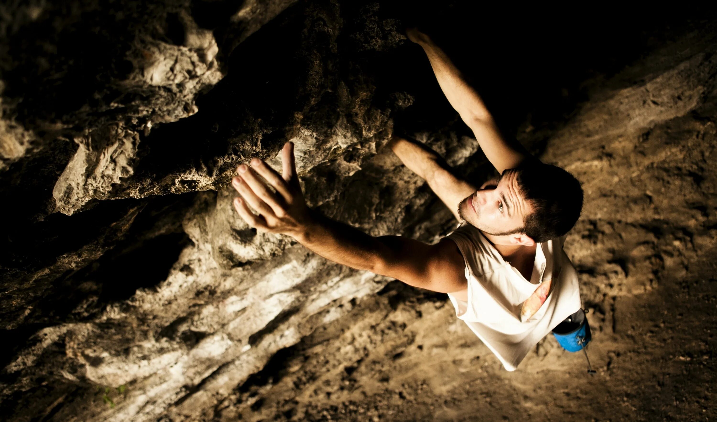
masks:
[[[511,266],[473,225],[461,223],[446,236],[465,259],[467,299],[448,294],[456,316],[514,371],[528,352],[570,314],[581,309],[577,271],[563,250],[566,236],[538,243],[531,280]],[[551,281],[552,280],[552,281]],[[551,291],[532,317],[521,322],[521,309],[543,283]]]

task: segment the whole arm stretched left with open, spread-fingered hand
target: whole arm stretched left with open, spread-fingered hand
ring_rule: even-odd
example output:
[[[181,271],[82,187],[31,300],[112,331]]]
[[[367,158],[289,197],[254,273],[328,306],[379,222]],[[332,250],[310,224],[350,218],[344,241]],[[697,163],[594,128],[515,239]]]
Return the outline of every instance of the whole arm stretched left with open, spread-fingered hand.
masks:
[[[465,263],[451,240],[428,245],[401,236],[374,238],[310,210],[298,182],[292,143],[282,150],[283,175],[260,159],[253,159],[251,164],[239,166],[239,176],[232,179],[241,194],[234,198],[234,208],[251,227],[290,235],[331,261],[397,278],[411,286],[442,293],[465,290]]]

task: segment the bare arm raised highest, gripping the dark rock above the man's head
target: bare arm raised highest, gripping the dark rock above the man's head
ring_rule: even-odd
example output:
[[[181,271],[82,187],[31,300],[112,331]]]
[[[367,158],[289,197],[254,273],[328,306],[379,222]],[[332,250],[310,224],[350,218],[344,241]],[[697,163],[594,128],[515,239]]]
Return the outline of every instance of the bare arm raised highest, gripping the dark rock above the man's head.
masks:
[[[534,159],[518,141],[503,139],[480,95],[430,37],[415,28],[407,31],[407,37],[423,47],[448,102],[473,130],[480,148],[498,173],[517,167],[525,159]]]

